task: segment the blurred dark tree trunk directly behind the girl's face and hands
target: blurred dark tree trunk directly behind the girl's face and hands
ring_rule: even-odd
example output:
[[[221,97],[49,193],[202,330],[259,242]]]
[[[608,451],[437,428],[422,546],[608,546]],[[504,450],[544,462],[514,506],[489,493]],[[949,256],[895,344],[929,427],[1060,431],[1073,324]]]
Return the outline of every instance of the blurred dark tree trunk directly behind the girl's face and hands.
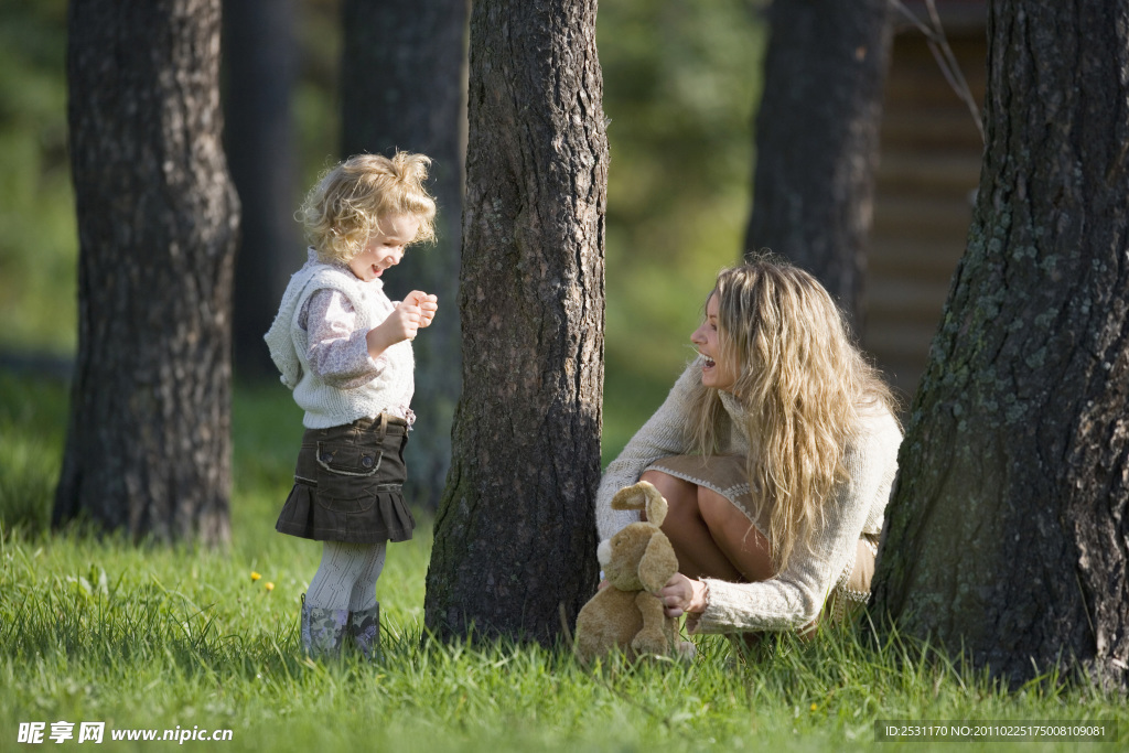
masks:
[[[438,243],[412,248],[388,274],[393,299],[420,289],[439,315],[413,343],[419,419],[408,444],[408,489],[431,510],[450,466],[450,424],[460,389],[458,252],[466,105],[467,0],[344,0],[342,151],[434,160]]]

